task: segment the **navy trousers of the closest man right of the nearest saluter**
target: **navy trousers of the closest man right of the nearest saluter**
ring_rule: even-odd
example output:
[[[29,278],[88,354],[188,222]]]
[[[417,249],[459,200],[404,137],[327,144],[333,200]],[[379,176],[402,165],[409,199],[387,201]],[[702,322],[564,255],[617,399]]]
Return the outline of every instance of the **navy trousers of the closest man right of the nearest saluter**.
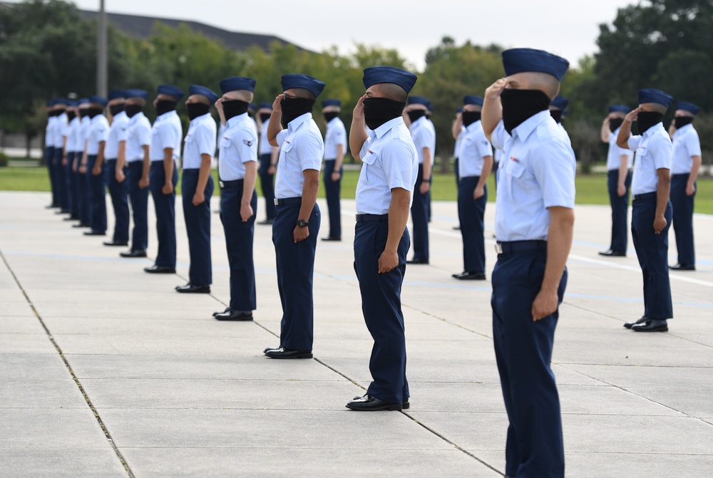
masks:
[[[656,193],[642,194],[632,202],[631,237],[644,279],[644,316],[652,320],[673,318],[668,275],[668,231],[672,209],[671,202],[668,202],[666,227],[661,234],[655,234]]]

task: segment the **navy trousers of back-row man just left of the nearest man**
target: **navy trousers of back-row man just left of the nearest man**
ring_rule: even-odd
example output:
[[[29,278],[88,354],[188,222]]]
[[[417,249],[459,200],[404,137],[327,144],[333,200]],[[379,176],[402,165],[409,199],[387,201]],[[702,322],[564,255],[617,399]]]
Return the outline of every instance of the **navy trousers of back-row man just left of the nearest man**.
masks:
[[[486,241],[483,236],[488,202],[488,186],[484,186],[485,194],[473,199],[480,176],[461,177],[458,182],[458,221],[461,222],[463,237],[463,271],[486,271]]]

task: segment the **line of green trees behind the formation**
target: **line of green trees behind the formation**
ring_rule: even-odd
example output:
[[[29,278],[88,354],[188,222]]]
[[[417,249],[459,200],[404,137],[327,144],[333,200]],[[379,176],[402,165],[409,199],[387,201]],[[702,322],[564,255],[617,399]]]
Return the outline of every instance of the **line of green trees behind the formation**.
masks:
[[[585,170],[605,158],[599,129],[607,105],[635,106],[639,88],[659,88],[701,106],[695,125],[704,151],[713,150],[713,0],[647,0],[613,14],[612,24],[600,25],[599,51],[570,66],[560,91],[570,99],[563,125]],[[217,90],[221,78],[250,76],[257,80],[255,101],[272,103],[281,93],[282,74],[305,73],[327,83],[322,98],[342,100],[348,129],[352,106],[364,91],[364,68],[388,64],[410,69],[419,76],[412,93],[434,105],[436,155],[446,170],[455,110],[463,95],[482,95],[503,76],[502,50],[495,44],[458,45],[444,37],[426,53],[426,66],[419,72],[398,51],[377,46],[358,44],[349,54],[336,47],[312,53],[275,42],[267,52],[257,46],[235,51],[186,25],[156,24],[148,38],[131,38],[110,25],[108,78],[110,90],[153,91],[160,83],[185,90],[197,83]],[[41,134],[48,98],[69,92],[84,96],[96,89],[96,21],[83,19],[76,6],[62,0],[0,7],[0,71],[0,129],[27,137]],[[666,125],[672,116],[671,109]],[[704,162],[710,159],[704,152]]]

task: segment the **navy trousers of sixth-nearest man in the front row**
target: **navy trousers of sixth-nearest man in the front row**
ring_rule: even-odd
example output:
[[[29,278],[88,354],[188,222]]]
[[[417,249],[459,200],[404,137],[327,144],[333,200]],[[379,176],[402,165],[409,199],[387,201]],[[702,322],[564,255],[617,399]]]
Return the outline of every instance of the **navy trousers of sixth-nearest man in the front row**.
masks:
[[[153,197],[153,207],[156,211],[156,235],[158,236],[158,252],[155,265],[161,267],[176,266],[176,213],[175,187],[178,184],[178,171],[173,162],[173,192],[163,194],[161,189],[165,184],[166,173],[163,161],[152,161],[148,171],[149,188]]]

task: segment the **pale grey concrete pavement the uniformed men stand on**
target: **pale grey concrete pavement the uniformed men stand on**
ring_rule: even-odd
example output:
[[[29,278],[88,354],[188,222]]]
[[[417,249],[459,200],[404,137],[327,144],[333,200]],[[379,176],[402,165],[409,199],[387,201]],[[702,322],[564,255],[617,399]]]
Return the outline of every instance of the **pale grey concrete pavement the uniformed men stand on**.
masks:
[[[342,202],[343,241],[318,243],[315,358],[297,361],[262,355],[279,343],[270,227],[255,227],[255,322],[220,323],[211,313],[229,301],[229,271],[217,214],[212,293],[185,296],[173,291],[188,280],[180,198],[178,274],[161,276],[143,273],[150,258],[120,259],[121,248],[83,237],[48,202],[0,192],[2,476],[501,476],[491,288],[451,279],[462,270],[454,202],[434,202],[431,265],[406,271],[411,409],[374,413],[344,408],[370,380],[353,201]],[[493,213],[488,204],[487,237]],[[607,207],[576,214],[553,357],[568,477],[713,474],[713,217],[694,219],[699,270],[671,273],[670,332],[645,334],[622,327],[643,309],[633,247],[598,256]]]

